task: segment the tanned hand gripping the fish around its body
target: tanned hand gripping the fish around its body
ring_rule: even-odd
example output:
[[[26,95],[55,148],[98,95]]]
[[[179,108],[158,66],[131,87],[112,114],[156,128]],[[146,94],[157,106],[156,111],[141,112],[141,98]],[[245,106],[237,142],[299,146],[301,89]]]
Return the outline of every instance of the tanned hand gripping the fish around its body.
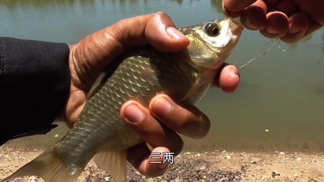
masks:
[[[160,52],[177,52],[185,49],[189,40],[174,27],[175,25],[168,15],[156,13],[121,20],[87,36],[77,44],[71,45],[69,57],[71,88],[61,118],[66,121],[68,126],[74,125],[86,103],[86,96],[94,81],[104,68],[121,53],[146,44],[151,44]],[[224,65],[221,70],[215,79],[215,85],[221,87],[225,92],[233,92],[239,83],[237,69],[234,66]],[[175,131],[199,138],[208,132],[210,123],[208,118],[196,108],[188,110],[177,105],[165,95],[161,95],[161,97],[170,101],[172,107],[171,112],[164,117],[152,112],[157,109],[158,113],[165,109],[161,108],[160,104],[156,107],[153,104],[153,99],[149,110],[140,106],[139,103],[127,102],[121,108],[121,118],[127,124],[132,125],[144,141],[155,147],[153,152],[169,152],[170,149],[178,154],[183,143]],[[145,114],[144,119],[138,124],[126,120],[126,116],[134,116],[136,113],[134,109],[125,110],[131,103],[138,106]],[[176,112],[181,112],[180,116],[179,114],[175,115]],[[150,151],[146,144],[142,143],[129,149],[128,160],[146,176],[163,174],[167,167],[150,164],[149,154]]]

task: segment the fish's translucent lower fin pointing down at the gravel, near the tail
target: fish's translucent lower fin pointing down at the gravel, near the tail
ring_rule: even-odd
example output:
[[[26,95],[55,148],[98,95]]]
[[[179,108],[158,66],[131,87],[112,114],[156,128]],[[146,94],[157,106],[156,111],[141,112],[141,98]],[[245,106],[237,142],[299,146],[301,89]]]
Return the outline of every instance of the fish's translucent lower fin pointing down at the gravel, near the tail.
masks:
[[[96,164],[109,173],[116,182],[125,181],[127,176],[126,150],[100,151],[94,158]]]

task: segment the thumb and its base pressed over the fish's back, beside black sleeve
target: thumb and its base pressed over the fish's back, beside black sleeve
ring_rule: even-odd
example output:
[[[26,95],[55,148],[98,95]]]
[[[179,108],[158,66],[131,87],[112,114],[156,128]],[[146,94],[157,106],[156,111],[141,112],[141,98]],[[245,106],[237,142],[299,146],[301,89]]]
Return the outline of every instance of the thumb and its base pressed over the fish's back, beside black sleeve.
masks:
[[[171,18],[162,12],[120,20],[81,40],[71,49],[78,65],[91,70],[96,78],[117,56],[132,47],[151,44],[161,52],[185,49],[189,40],[175,28]]]

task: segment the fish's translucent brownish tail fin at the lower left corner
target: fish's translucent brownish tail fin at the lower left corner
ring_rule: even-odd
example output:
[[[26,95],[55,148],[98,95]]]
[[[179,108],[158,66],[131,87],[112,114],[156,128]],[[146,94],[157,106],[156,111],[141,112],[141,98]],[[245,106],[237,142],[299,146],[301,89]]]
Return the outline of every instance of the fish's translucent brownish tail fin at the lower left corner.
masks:
[[[80,168],[69,169],[63,158],[52,147],[22,166],[9,177],[0,179],[0,182],[26,175],[42,177],[46,182],[72,182],[77,179],[82,171],[83,169]]]

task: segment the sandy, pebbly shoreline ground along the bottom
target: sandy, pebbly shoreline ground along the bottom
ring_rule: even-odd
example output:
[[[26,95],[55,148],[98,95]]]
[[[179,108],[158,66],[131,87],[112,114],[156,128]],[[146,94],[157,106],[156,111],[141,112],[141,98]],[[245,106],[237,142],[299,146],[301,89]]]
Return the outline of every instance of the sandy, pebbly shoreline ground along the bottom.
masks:
[[[44,150],[0,147],[0,178],[6,177]],[[323,152],[244,152],[183,151],[175,157],[167,172],[160,177],[146,178],[132,166],[127,181],[324,181]],[[10,180],[15,182],[43,181],[31,176]],[[78,182],[112,181],[111,177],[91,162]]]

